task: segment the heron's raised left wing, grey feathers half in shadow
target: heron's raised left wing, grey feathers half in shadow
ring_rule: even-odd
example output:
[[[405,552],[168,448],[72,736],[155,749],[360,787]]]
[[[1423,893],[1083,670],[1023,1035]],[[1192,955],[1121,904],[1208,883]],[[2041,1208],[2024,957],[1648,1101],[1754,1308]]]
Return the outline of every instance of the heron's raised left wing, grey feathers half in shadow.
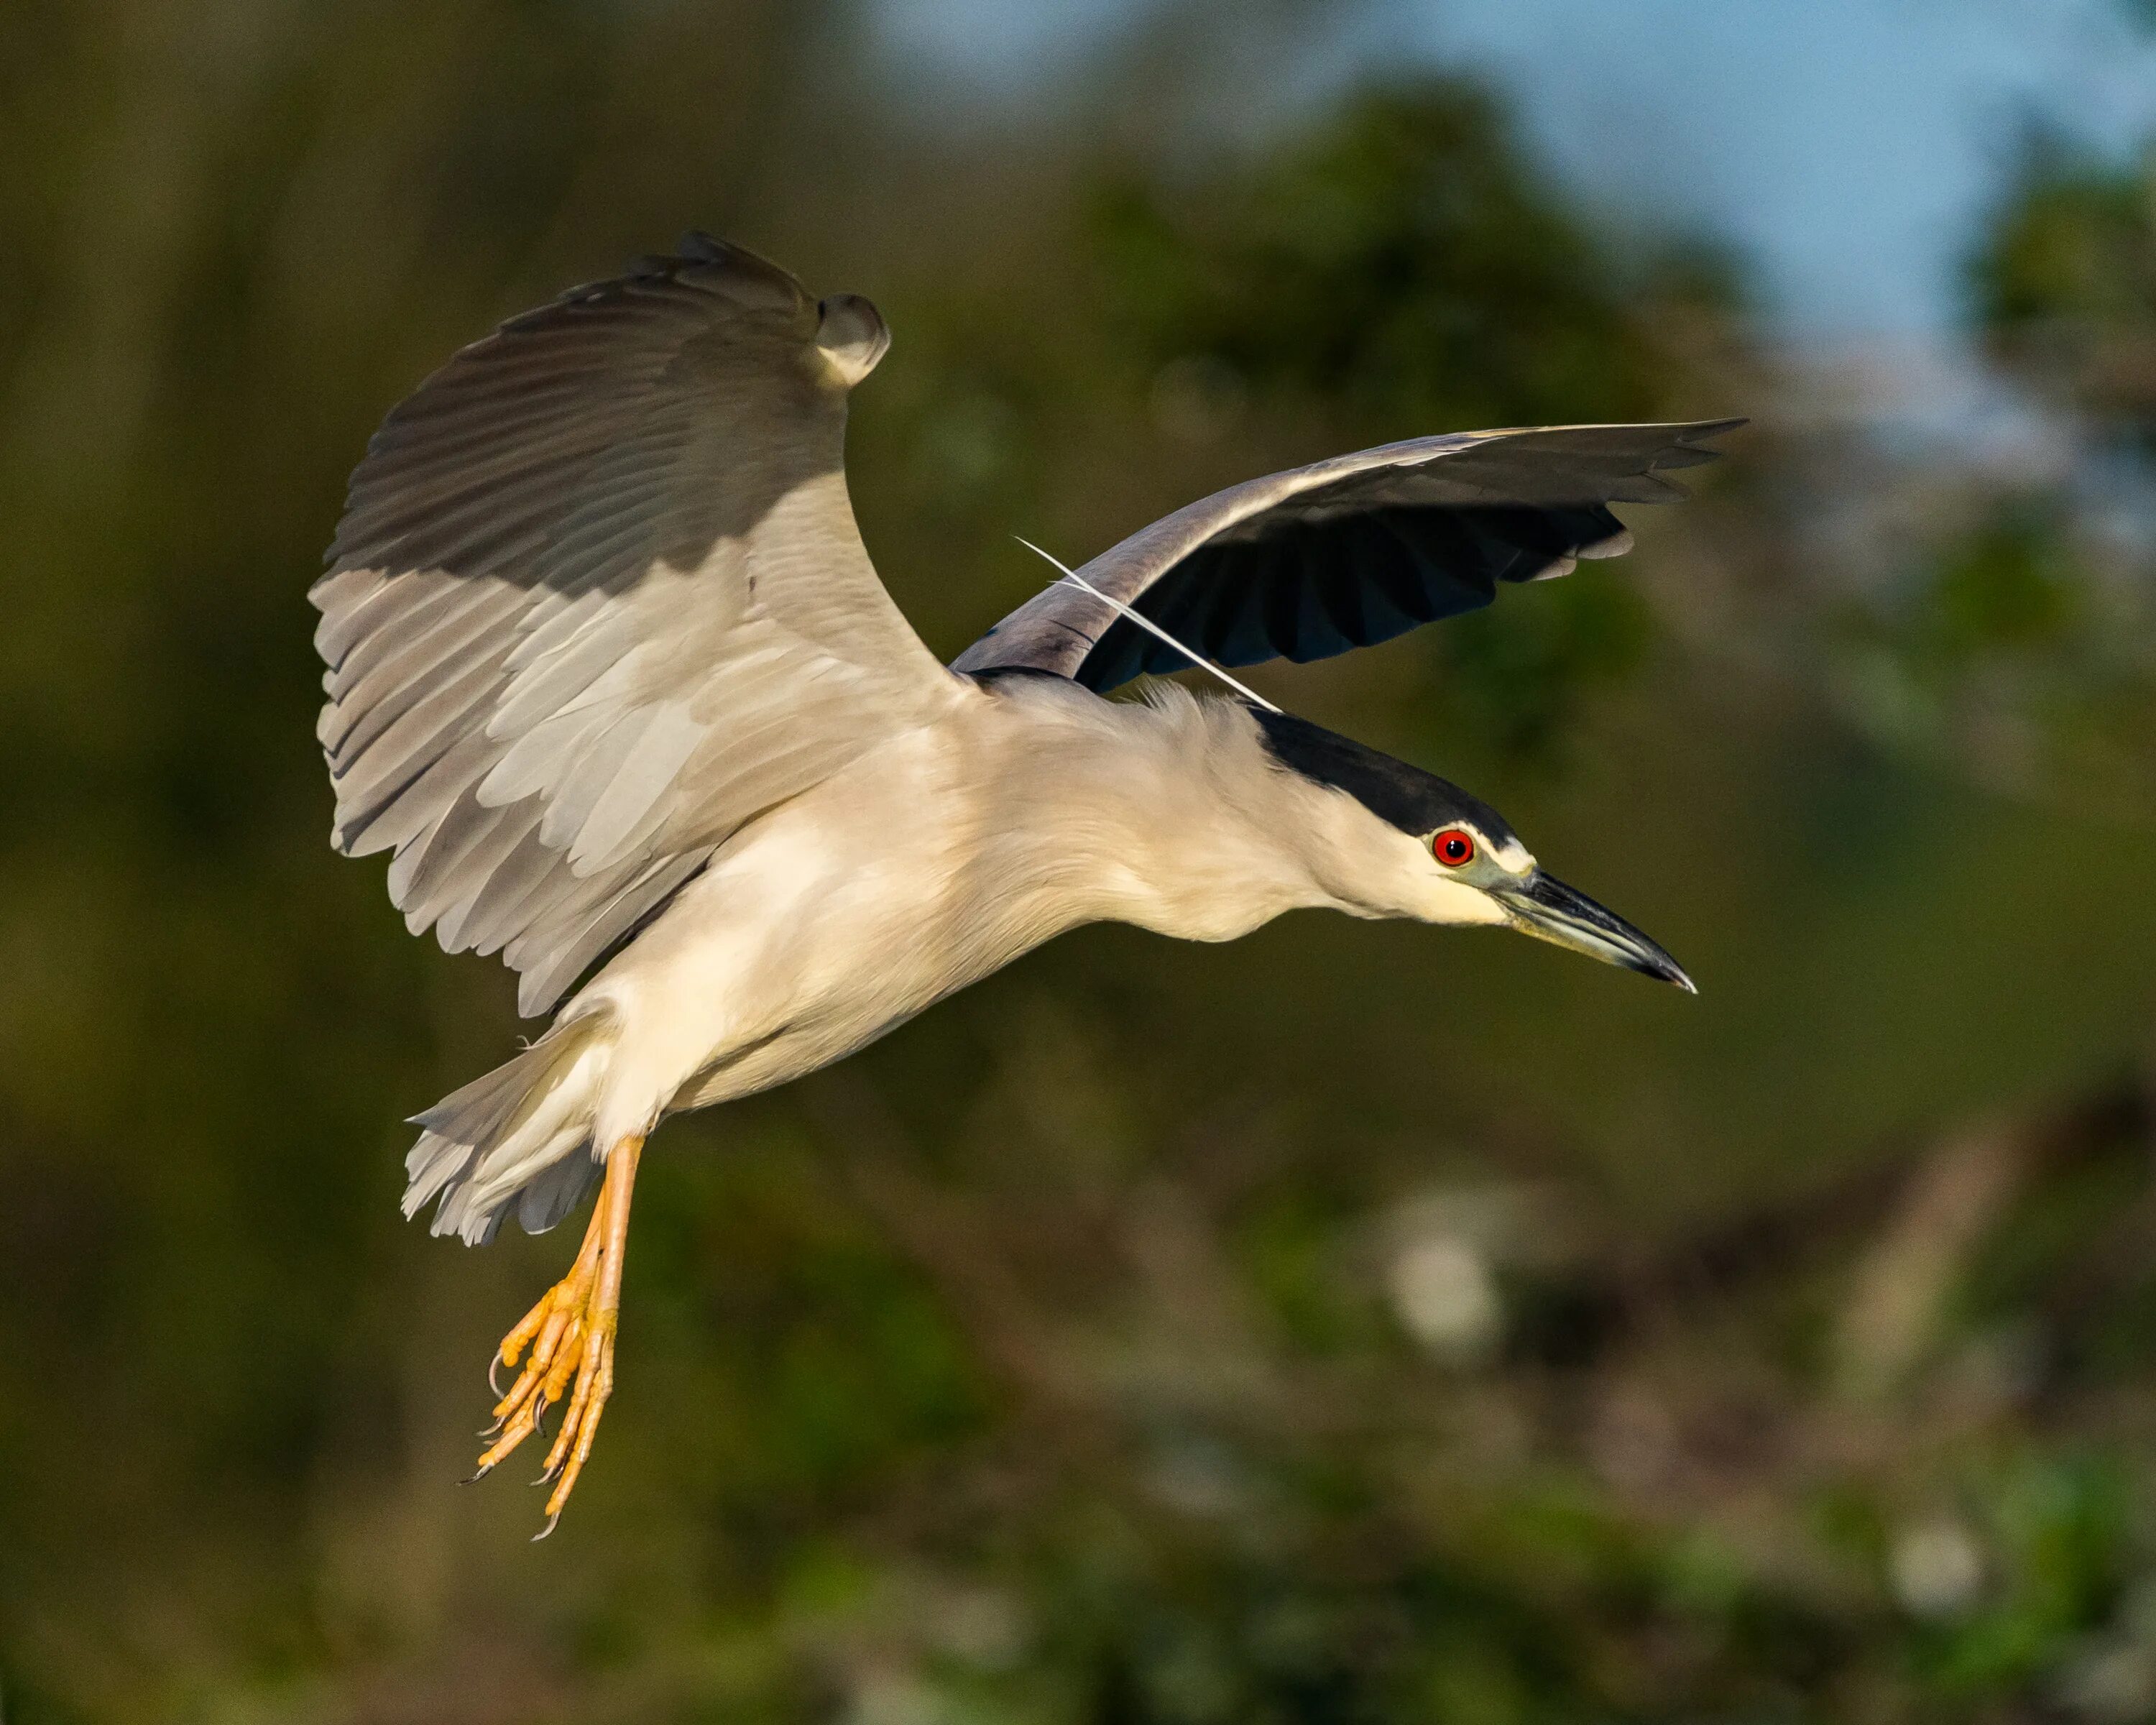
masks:
[[[718,843],[959,684],[845,494],[867,300],[690,235],[466,347],[351,477],[310,597],[334,843],[548,1009]]]

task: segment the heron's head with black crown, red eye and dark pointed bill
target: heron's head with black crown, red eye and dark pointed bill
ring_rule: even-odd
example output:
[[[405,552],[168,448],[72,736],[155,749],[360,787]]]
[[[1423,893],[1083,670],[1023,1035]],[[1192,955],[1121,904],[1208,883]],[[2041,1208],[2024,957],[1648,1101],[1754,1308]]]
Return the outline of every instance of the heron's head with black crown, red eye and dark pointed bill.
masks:
[[[1319,867],[1373,916],[1498,925],[1697,994],[1654,940],[1546,873],[1488,802],[1291,714],[1253,709],[1266,750],[1328,794]]]

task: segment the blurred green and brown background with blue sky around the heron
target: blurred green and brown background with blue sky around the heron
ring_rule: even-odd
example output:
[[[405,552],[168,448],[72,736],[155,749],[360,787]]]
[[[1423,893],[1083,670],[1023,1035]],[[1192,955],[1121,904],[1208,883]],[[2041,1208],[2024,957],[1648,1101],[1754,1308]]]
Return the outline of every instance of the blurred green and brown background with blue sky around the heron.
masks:
[[[2156,15],[2124,0],[0,6],[0,1716],[2156,1716]],[[647,1158],[397,1216],[507,972],[334,858],[379,414],[686,226],[873,295],[927,640],[1253,472],[1746,412],[1639,552],[1283,703],[1701,998],[1087,929]]]

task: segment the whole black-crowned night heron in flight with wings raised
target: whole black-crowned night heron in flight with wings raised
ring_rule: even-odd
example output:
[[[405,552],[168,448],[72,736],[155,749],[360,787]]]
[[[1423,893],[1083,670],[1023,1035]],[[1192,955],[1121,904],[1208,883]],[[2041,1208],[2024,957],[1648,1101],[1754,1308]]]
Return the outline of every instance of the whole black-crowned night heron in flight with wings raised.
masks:
[[[671,1113],[785,1085],[1080,923],[1231,940],[1298,906],[1516,927],[1690,988],[1490,804],[1188,660],[1313,660],[1613,556],[1712,425],[1414,438],[1192,502],[949,668],[845,492],[867,300],[703,235],[466,347],[351,479],[315,640],[334,843],[446,951],[502,953],[530,1048],[444,1098],[405,1214],[479,1244],[602,1179],[498,1363],[500,1462],[567,1397],[548,1529],[614,1380],[630,1188]]]

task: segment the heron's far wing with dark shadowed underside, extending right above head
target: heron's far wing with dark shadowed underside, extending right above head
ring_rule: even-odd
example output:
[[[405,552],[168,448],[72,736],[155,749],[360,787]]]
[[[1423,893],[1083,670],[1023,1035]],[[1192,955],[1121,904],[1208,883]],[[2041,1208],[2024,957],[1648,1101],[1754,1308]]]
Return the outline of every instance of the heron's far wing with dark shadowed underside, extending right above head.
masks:
[[[1501,580],[1542,580],[1632,546],[1608,505],[1671,502],[1669,468],[1712,461],[1699,425],[1457,431],[1339,455],[1199,498],[1078,574],[1216,664],[1322,660],[1477,610]],[[1056,582],[953,671],[1050,671],[1087,688],[1188,664]]]

